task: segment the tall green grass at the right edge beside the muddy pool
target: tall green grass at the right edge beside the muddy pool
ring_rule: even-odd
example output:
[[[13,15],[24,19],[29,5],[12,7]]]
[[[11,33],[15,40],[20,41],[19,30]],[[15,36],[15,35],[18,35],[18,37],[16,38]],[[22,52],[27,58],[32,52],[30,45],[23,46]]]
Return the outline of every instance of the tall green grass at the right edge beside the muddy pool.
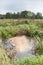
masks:
[[[36,37],[37,40],[38,40],[38,44],[36,45],[35,47],[35,52],[38,54],[38,55],[43,55],[43,38],[39,38],[39,37]]]

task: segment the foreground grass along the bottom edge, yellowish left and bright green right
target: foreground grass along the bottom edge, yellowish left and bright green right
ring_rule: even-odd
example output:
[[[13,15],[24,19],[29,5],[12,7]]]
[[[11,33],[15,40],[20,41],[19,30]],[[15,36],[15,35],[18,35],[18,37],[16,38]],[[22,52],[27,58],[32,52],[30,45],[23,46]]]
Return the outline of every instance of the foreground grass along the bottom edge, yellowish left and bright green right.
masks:
[[[10,60],[5,50],[0,47],[0,65],[43,65],[43,56],[30,56],[16,61]]]

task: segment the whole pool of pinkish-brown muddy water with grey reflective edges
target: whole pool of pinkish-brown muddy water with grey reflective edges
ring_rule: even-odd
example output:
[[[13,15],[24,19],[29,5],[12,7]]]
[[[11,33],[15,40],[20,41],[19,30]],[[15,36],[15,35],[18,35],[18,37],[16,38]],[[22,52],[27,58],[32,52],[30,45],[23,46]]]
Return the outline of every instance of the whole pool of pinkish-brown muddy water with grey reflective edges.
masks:
[[[16,36],[10,38],[4,44],[5,49],[13,49],[16,50],[16,57],[18,59],[35,55],[34,54],[34,46],[36,44],[36,40],[27,36]]]

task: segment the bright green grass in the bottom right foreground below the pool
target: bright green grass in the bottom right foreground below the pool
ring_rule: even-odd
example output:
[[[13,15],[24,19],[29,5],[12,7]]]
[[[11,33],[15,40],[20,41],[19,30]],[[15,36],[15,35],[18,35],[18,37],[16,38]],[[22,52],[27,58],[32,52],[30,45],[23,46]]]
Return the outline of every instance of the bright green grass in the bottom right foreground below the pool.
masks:
[[[17,65],[43,65],[43,56],[30,56],[17,61]]]

